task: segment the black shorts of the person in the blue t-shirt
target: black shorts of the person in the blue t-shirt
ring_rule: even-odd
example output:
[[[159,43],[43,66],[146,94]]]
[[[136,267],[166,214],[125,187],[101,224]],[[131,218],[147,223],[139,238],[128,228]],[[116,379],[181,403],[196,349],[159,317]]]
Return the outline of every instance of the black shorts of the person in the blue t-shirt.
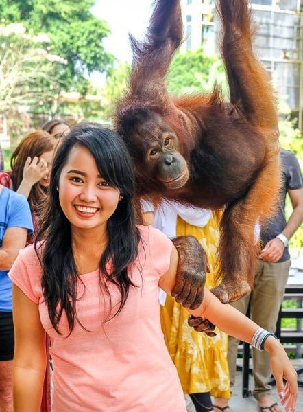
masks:
[[[0,361],[14,358],[14,323],[12,312],[0,312]]]

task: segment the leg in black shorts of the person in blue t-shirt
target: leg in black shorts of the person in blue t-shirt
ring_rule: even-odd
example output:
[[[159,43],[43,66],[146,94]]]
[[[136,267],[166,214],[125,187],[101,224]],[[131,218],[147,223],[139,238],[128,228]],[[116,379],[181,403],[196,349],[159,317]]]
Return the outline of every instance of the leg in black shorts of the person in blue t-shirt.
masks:
[[[12,412],[12,358],[14,325],[12,313],[0,312],[0,412]]]

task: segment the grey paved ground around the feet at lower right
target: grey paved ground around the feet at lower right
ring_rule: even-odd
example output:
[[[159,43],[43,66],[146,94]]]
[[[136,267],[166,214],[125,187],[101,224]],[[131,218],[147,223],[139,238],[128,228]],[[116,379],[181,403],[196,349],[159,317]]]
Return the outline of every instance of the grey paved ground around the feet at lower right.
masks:
[[[303,360],[293,361],[295,367],[303,367]],[[300,380],[303,380],[303,374],[299,376]],[[250,377],[250,387],[252,387],[253,381]],[[234,385],[232,391],[232,398],[230,399],[230,412],[258,412],[256,400],[252,396],[248,398],[242,397],[242,373],[237,372],[236,385]],[[276,387],[272,389],[272,395],[274,400],[279,403],[278,394],[276,393]],[[191,399],[186,396],[186,406],[188,412],[195,412],[195,407],[191,403]],[[283,411],[281,407],[281,411]],[[303,412],[303,387],[299,387],[299,397],[297,402],[296,412]]]

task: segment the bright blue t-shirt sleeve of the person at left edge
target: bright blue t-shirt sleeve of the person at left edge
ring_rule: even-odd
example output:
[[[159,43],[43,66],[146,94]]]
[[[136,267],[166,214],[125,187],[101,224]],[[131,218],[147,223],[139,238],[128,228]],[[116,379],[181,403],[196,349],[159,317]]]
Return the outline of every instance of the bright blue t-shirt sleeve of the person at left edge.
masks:
[[[18,195],[12,198],[8,227],[24,227],[28,229],[29,233],[32,233],[32,214],[24,196]]]

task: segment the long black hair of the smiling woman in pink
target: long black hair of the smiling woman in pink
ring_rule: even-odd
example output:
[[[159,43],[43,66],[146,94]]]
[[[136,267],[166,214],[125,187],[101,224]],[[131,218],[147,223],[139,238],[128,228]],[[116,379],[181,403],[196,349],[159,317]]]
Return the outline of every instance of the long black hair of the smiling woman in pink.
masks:
[[[121,137],[112,130],[96,123],[80,123],[73,127],[56,152],[51,171],[49,202],[41,218],[35,243],[36,253],[43,267],[42,287],[53,328],[60,333],[58,323],[66,313],[70,333],[77,320],[77,273],[71,249],[71,225],[60,203],[58,185],[62,168],[71,149],[84,146],[93,155],[97,169],[108,183],[117,187],[123,199],[108,220],[108,245],[101,256],[99,268],[106,278],[99,275],[102,289],[110,296],[106,284],[112,282],[119,288],[121,304],[114,314],[123,308],[130,286],[135,286],[128,277],[128,266],[134,262],[140,235],[136,228],[134,209],[134,178],[132,161]],[[41,240],[43,247],[40,249]],[[42,251],[42,253],[41,253]],[[112,259],[112,271],[106,271],[106,262]],[[102,280],[103,279],[103,280]]]

